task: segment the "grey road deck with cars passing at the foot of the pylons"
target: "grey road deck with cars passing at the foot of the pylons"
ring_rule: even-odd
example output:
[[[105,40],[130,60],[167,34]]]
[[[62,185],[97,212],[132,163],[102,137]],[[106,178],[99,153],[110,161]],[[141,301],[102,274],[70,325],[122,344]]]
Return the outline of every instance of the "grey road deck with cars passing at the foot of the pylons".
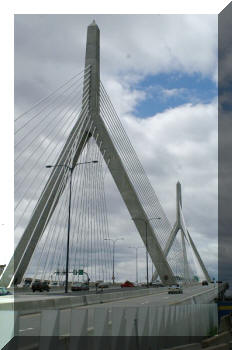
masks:
[[[59,305],[63,303],[63,307],[72,304],[75,307],[102,307],[104,304],[107,305],[121,305],[121,306],[139,306],[139,305],[174,305],[178,303],[193,303],[193,297],[198,297],[200,295],[212,294],[217,295],[218,286],[209,284],[208,286],[195,285],[191,287],[186,287],[183,289],[183,294],[168,294],[168,288],[140,288],[140,289],[109,289],[105,290],[103,293],[96,294],[95,291],[90,292],[70,292],[68,295],[64,295],[63,292],[52,291],[50,293],[32,293],[28,291],[27,293],[17,292],[9,297],[4,297],[0,299],[0,309],[9,308],[11,309],[11,304],[14,304],[15,310],[28,310],[30,308],[33,310],[35,304],[37,309],[39,309],[39,304],[41,308],[59,308]],[[150,294],[150,295],[148,295]],[[83,299],[83,297],[86,297]],[[120,299],[120,300],[118,300]],[[211,297],[212,300],[212,297]],[[68,301],[68,303],[67,303]],[[197,301],[194,301],[197,303]],[[85,305],[85,304],[88,305]]]

